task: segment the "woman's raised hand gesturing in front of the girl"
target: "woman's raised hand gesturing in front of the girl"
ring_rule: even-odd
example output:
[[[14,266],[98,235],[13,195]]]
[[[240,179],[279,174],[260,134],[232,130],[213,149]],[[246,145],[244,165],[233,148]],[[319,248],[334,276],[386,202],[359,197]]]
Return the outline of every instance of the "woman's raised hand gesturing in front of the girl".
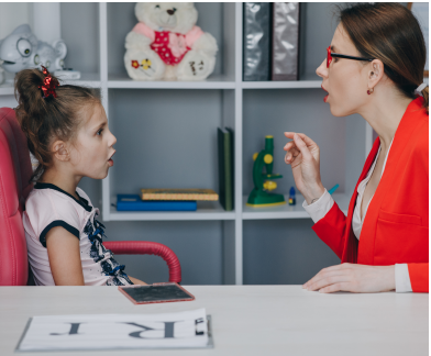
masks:
[[[305,134],[285,132],[287,138],[292,138],[284,149],[286,164],[291,166],[295,183],[308,204],[324,193],[320,179],[319,146]]]

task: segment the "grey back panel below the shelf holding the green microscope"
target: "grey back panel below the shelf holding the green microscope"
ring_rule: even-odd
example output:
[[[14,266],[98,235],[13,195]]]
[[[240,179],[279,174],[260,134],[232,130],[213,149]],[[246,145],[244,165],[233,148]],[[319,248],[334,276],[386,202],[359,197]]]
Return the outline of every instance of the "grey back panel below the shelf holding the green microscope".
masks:
[[[311,220],[244,222],[244,285],[302,285],[340,264],[311,230]]]

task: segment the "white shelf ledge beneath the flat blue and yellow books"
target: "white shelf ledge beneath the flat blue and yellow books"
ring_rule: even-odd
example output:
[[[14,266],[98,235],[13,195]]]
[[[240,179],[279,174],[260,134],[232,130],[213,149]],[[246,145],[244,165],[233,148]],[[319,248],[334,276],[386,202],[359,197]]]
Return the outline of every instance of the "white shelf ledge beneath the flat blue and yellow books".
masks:
[[[112,200],[114,201],[114,200]],[[235,220],[234,211],[224,211],[218,201],[198,201],[197,211],[117,211],[111,207],[111,221]]]

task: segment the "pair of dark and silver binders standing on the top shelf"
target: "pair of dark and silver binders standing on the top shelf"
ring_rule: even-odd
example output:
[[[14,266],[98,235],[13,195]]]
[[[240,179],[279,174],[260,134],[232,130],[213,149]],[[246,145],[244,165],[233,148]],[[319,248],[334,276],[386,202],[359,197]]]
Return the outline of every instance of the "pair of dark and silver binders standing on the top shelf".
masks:
[[[244,3],[244,81],[299,79],[299,2]]]

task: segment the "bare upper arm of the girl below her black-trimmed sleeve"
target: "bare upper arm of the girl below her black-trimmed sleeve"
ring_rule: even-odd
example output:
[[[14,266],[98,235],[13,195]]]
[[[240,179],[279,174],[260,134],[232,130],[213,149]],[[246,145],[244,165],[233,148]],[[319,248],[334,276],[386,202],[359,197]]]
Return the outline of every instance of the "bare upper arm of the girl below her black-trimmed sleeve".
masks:
[[[79,240],[62,226],[46,234],[49,266],[56,286],[85,286]]]

